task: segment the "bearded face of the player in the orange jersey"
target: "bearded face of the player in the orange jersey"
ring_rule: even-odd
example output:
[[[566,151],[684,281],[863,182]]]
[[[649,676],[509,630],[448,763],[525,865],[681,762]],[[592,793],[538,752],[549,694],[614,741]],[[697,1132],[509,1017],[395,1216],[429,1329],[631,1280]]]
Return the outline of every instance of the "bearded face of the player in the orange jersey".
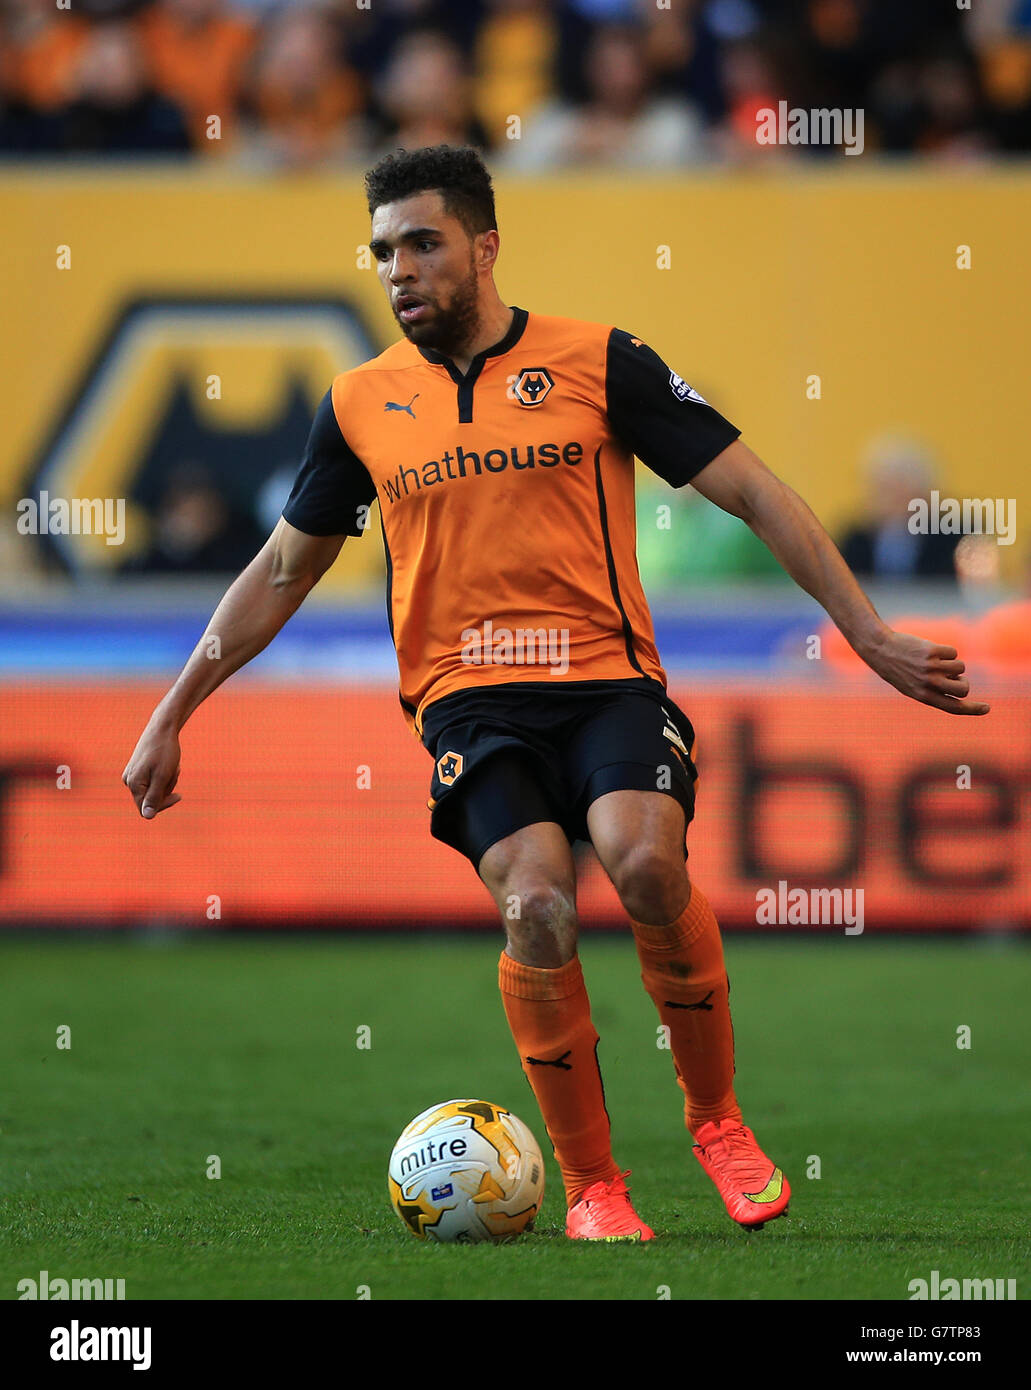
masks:
[[[370,247],[404,336],[459,356],[479,327],[479,277],[475,242],[445,213],[443,196],[383,203],[372,214]]]

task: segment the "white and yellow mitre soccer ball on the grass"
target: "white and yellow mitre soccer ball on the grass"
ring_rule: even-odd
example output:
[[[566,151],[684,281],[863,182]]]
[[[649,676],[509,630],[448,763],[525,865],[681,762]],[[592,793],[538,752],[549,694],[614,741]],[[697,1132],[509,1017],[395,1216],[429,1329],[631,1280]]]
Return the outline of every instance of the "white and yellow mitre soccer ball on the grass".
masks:
[[[390,1154],[390,1202],[420,1240],[511,1240],[532,1230],[545,1194],[534,1134],[489,1101],[445,1101],[417,1115]]]

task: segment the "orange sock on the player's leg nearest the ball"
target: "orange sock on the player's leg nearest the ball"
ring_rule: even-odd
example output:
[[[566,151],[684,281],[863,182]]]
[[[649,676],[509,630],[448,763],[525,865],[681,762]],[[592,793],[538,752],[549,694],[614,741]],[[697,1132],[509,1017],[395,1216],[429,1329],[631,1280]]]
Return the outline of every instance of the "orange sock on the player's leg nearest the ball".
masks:
[[[497,984],[522,1070],[536,1095],[572,1207],[592,1183],[616,1177],[597,1033],[579,959],[557,970],[521,965],[503,951]]]

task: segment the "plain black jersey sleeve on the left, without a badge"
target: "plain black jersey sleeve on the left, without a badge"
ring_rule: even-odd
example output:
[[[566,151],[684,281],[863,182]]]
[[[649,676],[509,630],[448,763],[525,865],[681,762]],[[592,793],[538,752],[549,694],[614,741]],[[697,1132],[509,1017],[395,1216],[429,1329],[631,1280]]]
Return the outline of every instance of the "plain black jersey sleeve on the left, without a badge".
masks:
[[[368,470],[340,432],[332,389],[327,391],[315,411],[283,517],[306,535],[364,535],[375,495]]]

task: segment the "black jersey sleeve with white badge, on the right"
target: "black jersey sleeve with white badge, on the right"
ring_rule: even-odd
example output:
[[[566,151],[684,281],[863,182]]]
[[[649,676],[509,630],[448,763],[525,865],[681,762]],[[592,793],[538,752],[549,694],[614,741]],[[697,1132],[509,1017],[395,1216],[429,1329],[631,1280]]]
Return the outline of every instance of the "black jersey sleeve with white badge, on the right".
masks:
[[[613,434],[674,488],[741,435],[648,343],[621,328],[609,334],[604,391]]]

